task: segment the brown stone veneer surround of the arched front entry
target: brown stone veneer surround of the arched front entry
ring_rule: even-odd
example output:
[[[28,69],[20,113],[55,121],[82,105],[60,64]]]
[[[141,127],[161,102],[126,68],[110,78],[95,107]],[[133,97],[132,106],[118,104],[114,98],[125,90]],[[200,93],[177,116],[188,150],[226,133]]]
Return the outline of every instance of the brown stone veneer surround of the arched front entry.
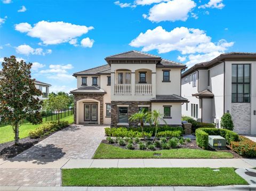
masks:
[[[90,98],[100,101],[100,124],[103,124],[103,96],[104,94],[74,94],[74,122],[76,121],[76,102],[80,99]]]

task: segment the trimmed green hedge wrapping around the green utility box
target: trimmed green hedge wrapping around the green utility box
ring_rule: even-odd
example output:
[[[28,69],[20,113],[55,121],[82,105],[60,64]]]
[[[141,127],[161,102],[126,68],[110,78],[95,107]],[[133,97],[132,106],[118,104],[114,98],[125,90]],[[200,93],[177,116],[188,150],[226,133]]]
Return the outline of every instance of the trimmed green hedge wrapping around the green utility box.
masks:
[[[238,140],[238,134],[227,129],[199,128],[196,129],[196,144],[203,149],[207,149],[209,135],[220,135],[226,139],[228,144]]]

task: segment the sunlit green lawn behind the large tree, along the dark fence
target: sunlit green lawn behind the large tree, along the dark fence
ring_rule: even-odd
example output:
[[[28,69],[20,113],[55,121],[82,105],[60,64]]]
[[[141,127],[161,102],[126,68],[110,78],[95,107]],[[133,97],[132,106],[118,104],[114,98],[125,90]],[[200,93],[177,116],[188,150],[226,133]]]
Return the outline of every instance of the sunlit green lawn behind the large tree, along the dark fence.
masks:
[[[68,121],[69,123],[74,122],[74,115],[70,115],[69,117],[62,118],[61,121]],[[41,124],[31,124],[24,123],[20,126],[20,138],[25,138],[28,136],[28,132],[36,129],[41,126]],[[0,144],[5,142],[10,142],[14,140],[14,133],[12,127],[10,125],[0,127]]]

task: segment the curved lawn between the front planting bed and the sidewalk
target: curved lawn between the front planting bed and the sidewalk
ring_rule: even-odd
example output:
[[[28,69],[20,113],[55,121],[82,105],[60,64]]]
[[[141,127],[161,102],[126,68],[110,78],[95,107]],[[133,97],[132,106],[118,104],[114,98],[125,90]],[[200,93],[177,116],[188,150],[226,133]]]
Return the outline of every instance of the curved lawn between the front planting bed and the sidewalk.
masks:
[[[161,153],[161,156],[154,155]],[[228,152],[206,151],[191,148],[179,148],[161,151],[127,150],[101,143],[93,159],[225,159],[234,156]]]

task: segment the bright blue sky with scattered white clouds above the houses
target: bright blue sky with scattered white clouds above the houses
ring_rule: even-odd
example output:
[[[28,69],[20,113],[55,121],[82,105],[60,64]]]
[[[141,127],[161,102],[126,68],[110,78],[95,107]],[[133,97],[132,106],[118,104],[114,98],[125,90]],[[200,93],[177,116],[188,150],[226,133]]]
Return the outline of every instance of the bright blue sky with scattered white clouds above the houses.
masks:
[[[254,0],[1,0],[0,59],[34,63],[34,78],[68,92],[76,88],[72,73],[131,49],[188,67],[255,52],[255,8]]]

